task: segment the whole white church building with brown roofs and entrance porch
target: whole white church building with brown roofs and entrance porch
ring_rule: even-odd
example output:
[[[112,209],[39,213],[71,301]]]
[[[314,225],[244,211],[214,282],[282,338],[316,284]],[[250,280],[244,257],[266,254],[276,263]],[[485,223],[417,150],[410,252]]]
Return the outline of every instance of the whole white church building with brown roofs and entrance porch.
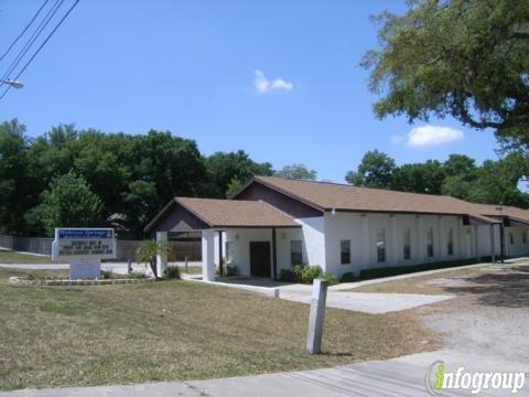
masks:
[[[376,267],[529,254],[529,211],[451,196],[256,176],[229,200],[174,197],[145,232],[202,230],[203,277],[277,278],[319,265],[338,277]],[[166,266],[159,257],[159,273]]]

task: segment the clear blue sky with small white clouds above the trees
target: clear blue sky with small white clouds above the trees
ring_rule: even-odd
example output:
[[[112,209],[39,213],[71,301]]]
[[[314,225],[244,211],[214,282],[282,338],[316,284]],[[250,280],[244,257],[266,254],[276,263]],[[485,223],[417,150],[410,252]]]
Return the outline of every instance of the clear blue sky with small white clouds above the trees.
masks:
[[[2,51],[41,3],[2,1]],[[68,122],[171,130],[206,154],[244,149],[277,169],[304,163],[336,182],[371,149],[398,164],[450,153],[495,159],[490,131],[451,119],[419,128],[375,118],[358,63],[377,45],[369,15],[385,9],[406,8],[398,0],[82,0],[21,77],[24,88],[0,100],[0,120],[17,117],[32,136]]]

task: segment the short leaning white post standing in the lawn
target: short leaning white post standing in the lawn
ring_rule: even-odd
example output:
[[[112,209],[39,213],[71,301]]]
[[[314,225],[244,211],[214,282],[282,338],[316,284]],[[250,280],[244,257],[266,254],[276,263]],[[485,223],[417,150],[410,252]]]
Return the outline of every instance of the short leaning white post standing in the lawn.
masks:
[[[306,350],[310,354],[322,353],[323,323],[325,321],[325,302],[327,300],[327,281],[314,279],[312,283],[311,313],[306,333]]]

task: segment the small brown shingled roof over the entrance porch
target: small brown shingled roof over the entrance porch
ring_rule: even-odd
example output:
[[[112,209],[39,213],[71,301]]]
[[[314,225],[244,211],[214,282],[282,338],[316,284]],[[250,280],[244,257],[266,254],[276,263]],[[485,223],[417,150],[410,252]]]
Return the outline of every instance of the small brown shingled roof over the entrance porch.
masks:
[[[260,201],[175,197],[212,227],[300,227],[291,217]]]

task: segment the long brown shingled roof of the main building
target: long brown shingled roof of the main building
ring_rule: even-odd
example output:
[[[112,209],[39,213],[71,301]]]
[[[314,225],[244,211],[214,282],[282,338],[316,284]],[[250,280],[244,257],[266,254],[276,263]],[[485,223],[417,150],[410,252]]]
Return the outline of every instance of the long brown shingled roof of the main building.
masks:
[[[483,222],[498,222],[495,205],[474,204],[446,195],[397,192],[353,185],[256,176],[261,182],[284,194],[322,211],[366,211],[421,214],[469,215]],[[503,215],[529,222],[529,211],[506,206]]]

